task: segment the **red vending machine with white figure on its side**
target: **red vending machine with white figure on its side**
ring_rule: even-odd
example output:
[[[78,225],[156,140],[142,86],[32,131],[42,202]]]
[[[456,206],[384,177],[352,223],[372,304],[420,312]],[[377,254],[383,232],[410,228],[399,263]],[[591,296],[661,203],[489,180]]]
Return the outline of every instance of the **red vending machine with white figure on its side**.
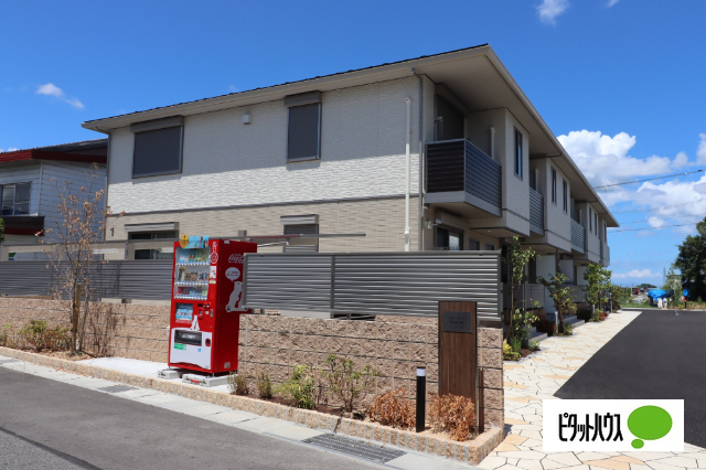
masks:
[[[174,242],[169,366],[216,374],[238,368],[243,257],[257,244],[207,236]]]

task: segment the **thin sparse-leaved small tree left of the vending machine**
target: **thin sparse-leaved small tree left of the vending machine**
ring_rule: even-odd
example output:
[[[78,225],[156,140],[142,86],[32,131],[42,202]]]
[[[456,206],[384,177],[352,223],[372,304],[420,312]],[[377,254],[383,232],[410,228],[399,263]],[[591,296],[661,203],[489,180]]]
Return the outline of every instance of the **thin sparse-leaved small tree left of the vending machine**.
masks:
[[[92,285],[90,275],[96,265],[105,261],[95,255],[95,249],[103,239],[106,227],[104,210],[104,190],[96,190],[99,178],[97,165],[93,165],[88,185],[75,188],[73,181],[52,184],[58,195],[56,210],[58,217],[54,227],[50,227],[45,243],[52,244],[44,253],[49,259],[47,268],[54,274],[52,297],[63,301],[71,313],[72,351],[76,352],[78,325],[84,323],[78,318],[81,297],[89,300],[95,297],[96,288]],[[124,213],[118,214],[118,216]],[[84,302],[84,318],[89,302]]]

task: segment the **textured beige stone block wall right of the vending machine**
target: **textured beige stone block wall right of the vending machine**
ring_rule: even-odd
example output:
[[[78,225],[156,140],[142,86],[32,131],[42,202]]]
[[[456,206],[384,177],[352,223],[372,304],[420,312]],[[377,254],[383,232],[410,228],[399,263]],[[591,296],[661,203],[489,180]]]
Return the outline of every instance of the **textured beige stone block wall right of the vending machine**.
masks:
[[[439,356],[436,321],[346,321],[267,316],[243,316],[238,372],[255,386],[255,376],[265,371],[274,382],[282,382],[293,365],[325,366],[325,357],[336,354],[359,366],[381,372],[374,394],[399,387],[409,397],[416,391],[416,368],[427,367],[427,393],[438,393]],[[425,319],[428,320],[428,319]],[[502,329],[479,329],[478,351],[480,409],[485,428],[504,426]],[[368,397],[371,399],[372,396]]]

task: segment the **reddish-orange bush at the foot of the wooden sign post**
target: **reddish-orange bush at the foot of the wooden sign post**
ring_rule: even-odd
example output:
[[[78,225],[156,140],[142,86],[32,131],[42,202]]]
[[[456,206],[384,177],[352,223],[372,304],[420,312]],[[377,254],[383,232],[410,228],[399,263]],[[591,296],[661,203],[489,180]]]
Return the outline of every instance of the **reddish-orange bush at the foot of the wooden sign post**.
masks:
[[[475,429],[475,406],[459,395],[431,395],[429,421],[435,430],[447,430],[451,439],[463,441]]]

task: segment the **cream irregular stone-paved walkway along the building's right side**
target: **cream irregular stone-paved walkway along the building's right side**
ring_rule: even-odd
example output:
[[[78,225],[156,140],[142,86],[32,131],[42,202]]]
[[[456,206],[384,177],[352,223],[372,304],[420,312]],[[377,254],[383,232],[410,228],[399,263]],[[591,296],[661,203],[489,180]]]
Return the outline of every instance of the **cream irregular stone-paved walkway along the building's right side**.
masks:
[[[587,323],[570,338],[549,338],[542,351],[521,362],[505,362],[507,437],[479,467],[486,470],[683,470],[706,469],[706,450],[684,445],[684,452],[544,452],[542,399],[554,394],[603,344],[640,312],[611,314]]]

